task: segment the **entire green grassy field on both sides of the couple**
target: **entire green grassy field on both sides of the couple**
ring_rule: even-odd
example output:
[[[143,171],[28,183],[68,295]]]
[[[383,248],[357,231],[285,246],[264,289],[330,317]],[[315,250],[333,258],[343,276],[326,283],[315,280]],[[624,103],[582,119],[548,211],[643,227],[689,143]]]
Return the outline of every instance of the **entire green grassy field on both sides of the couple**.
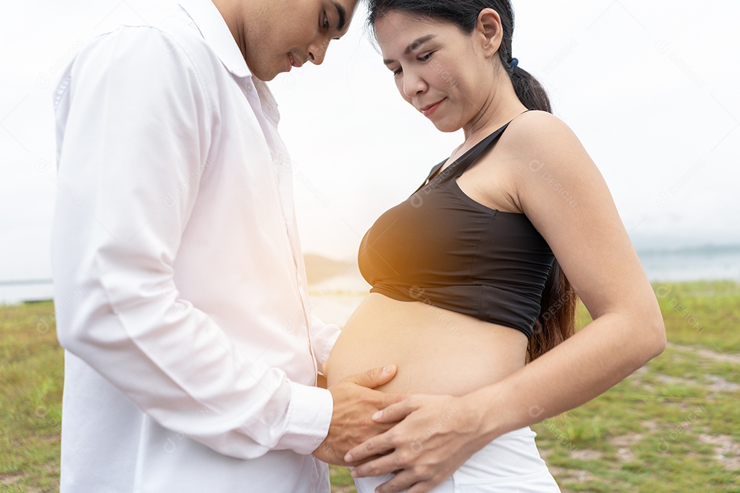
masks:
[[[533,426],[563,492],[740,493],[740,285],[653,287],[665,353]],[[63,358],[50,313],[50,302],[0,307],[2,492],[58,491]],[[346,468],[331,472],[334,492],[354,492]]]

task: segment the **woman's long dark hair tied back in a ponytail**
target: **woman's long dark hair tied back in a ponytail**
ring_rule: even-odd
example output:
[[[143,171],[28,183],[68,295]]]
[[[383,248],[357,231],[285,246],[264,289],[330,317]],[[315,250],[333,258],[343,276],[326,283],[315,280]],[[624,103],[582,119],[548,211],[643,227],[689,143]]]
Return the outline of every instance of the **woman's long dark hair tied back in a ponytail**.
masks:
[[[545,88],[518,64],[512,64],[511,40],[514,38],[514,7],[509,0],[368,0],[368,24],[371,29],[386,14],[400,12],[411,16],[451,22],[465,35],[471,35],[481,10],[493,9],[501,17],[503,36],[499,58],[511,78],[519,101],[529,109],[552,113]],[[557,260],[545,282],[541,310],[534,325],[534,335],[527,347],[528,361],[547,353],[576,331],[578,298]]]

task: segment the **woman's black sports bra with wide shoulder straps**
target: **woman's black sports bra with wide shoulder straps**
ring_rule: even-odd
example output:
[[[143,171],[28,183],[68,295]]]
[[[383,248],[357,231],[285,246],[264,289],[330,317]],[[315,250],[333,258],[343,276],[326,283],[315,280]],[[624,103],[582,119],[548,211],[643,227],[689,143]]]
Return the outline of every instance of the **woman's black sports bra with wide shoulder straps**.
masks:
[[[524,214],[485,207],[455,180],[507,126],[438,174],[444,161],[434,166],[411,197],[372,225],[358,255],[371,293],[425,302],[531,337],[554,255]]]

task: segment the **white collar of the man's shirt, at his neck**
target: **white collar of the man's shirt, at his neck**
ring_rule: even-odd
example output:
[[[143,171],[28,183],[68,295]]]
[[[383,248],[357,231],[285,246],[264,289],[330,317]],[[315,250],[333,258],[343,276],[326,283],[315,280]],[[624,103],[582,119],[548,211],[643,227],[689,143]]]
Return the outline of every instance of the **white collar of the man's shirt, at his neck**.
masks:
[[[252,75],[241,55],[234,36],[223,20],[221,12],[211,0],[180,0],[180,7],[192,18],[203,39],[221,59],[226,69],[237,77]]]

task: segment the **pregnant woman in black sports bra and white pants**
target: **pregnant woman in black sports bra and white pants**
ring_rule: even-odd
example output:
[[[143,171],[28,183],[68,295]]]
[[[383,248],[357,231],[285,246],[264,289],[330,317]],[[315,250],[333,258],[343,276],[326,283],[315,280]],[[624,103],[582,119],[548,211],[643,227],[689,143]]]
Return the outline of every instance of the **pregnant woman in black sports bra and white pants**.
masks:
[[[324,373],[396,364],[380,390],[411,397],[345,460],[366,461],[360,493],[559,492],[528,426],[662,352],[653,290],[598,169],[512,58],[509,1],[369,4],[400,95],[465,140],[360,245],[371,293]],[[593,318],[577,333],[576,294]]]

